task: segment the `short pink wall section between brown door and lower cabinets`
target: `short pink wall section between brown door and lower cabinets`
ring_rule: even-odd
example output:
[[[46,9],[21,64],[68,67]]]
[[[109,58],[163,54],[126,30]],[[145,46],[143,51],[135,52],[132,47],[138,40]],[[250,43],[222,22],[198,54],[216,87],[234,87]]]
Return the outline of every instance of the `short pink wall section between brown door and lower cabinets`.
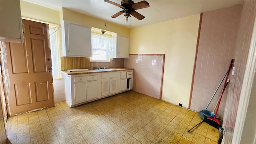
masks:
[[[63,76],[62,76],[63,77]],[[54,102],[65,102],[65,83],[64,78],[53,80]]]

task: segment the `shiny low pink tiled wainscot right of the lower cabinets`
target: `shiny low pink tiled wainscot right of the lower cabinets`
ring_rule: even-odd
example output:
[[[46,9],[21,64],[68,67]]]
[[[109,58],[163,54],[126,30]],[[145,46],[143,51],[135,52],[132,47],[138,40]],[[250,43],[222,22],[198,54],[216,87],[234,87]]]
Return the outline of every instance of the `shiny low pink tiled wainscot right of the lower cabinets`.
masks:
[[[132,90],[157,99],[162,90],[163,66],[164,54],[132,54],[124,60],[124,67],[134,68]]]

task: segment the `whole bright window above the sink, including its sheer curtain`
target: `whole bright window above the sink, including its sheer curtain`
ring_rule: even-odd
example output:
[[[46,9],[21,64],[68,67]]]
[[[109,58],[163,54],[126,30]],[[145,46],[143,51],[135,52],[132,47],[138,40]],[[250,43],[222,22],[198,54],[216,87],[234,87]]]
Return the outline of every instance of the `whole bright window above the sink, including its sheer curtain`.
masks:
[[[92,32],[92,62],[110,62],[112,50],[112,36]]]

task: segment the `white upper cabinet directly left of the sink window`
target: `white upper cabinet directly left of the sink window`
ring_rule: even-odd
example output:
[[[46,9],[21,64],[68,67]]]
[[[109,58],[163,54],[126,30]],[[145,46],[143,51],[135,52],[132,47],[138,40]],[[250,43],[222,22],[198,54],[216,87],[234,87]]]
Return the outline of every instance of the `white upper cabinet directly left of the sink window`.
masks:
[[[63,56],[92,57],[91,27],[62,21]]]

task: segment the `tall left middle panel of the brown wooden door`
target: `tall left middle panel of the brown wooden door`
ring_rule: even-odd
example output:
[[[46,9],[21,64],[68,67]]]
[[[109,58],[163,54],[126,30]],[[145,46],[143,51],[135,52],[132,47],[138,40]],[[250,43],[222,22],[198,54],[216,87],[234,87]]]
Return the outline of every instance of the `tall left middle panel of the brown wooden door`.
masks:
[[[28,57],[26,49],[26,40],[24,43],[12,43],[10,45],[12,72],[14,74],[28,72]]]

